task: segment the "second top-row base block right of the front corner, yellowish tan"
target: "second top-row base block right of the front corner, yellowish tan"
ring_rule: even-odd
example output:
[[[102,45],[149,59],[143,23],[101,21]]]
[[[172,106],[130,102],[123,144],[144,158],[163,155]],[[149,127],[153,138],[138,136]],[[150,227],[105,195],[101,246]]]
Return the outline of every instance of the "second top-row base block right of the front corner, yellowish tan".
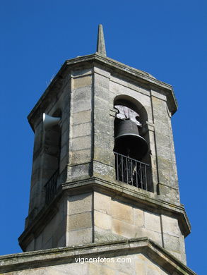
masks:
[[[119,219],[129,224],[134,224],[133,209],[129,204],[125,204],[124,202],[118,202],[117,200],[112,200],[111,205],[111,213],[114,219]]]

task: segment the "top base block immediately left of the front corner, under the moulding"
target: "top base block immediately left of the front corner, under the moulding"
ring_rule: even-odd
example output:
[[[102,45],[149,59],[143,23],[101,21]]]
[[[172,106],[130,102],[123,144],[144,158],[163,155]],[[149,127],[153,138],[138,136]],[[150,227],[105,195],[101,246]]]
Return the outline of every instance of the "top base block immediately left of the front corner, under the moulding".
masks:
[[[92,193],[69,197],[69,215],[90,212],[92,210]]]

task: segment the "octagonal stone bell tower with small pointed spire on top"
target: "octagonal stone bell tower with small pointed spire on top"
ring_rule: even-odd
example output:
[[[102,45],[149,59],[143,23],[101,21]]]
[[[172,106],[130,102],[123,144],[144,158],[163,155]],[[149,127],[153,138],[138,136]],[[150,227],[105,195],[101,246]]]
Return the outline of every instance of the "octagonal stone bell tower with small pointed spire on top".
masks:
[[[99,25],[96,53],[67,60],[28,116],[35,142],[19,243],[36,259],[32,267],[194,274],[186,266],[190,224],[179,201],[175,111],[171,85],[106,56]],[[88,263],[82,273],[72,255],[133,262]]]

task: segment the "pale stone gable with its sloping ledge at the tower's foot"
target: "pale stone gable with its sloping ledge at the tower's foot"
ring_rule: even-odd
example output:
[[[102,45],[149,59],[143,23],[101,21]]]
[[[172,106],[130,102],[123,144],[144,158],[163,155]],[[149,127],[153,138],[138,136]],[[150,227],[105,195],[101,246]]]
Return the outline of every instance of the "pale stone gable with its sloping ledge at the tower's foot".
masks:
[[[0,272],[2,275],[196,275],[147,238],[83,243],[75,247],[0,256]]]

